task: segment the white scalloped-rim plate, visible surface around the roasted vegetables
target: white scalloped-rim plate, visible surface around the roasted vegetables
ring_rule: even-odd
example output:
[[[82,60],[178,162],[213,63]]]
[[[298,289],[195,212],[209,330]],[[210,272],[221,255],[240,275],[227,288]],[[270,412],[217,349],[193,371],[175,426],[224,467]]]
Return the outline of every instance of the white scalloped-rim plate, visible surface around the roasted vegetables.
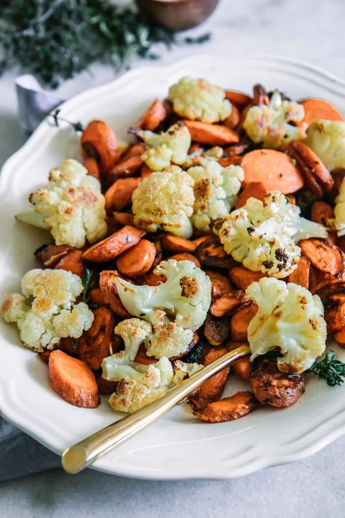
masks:
[[[324,97],[345,113],[345,82],[310,65],[278,59],[193,56],[169,67],[142,67],[88,90],[62,106],[71,121],[107,121],[119,138],[154,97],[184,75],[250,92],[261,82],[292,98]],[[37,267],[34,250],[48,233],[14,221],[26,197],[47,180],[48,170],[67,157],[80,158],[79,139],[65,126],[43,121],[4,165],[0,176],[0,297],[18,291],[22,275]],[[0,318],[0,412],[29,435],[61,454],[65,448],[121,417],[107,397],[97,409],[79,409],[59,398],[48,383],[47,365],[19,344],[18,329]],[[337,348],[340,359],[345,352]],[[230,379],[226,395],[247,390]],[[317,452],[345,431],[345,386],[329,387],[310,377],[304,396],[284,410],[262,407],[243,419],[209,425],[184,405],[101,458],[94,468],[142,479],[231,478]]]

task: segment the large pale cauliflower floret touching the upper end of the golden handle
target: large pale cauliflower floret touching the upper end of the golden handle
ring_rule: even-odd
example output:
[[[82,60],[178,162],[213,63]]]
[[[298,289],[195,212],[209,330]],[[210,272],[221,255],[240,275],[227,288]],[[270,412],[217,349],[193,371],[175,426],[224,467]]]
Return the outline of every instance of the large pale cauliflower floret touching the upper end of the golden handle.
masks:
[[[259,308],[248,327],[251,361],[278,348],[278,368],[300,374],[324,352],[327,330],[318,295],[297,284],[263,278],[248,286],[246,296]]]

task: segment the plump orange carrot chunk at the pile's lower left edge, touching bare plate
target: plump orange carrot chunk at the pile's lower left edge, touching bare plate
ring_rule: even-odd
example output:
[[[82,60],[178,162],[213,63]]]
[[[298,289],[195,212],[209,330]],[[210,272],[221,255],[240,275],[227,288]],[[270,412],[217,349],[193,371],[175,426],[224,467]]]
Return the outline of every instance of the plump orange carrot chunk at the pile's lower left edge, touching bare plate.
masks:
[[[92,370],[80,359],[56,349],[49,356],[49,383],[65,401],[76,407],[97,408],[100,402]]]

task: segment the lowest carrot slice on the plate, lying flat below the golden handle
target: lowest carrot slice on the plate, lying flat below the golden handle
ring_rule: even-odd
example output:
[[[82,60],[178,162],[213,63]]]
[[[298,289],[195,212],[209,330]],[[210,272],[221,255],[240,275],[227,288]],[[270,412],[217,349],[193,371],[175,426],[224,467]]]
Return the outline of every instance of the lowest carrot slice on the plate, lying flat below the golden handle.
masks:
[[[214,401],[193,414],[207,423],[226,423],[243,418],[257,408],[257,401],[249,391]]]

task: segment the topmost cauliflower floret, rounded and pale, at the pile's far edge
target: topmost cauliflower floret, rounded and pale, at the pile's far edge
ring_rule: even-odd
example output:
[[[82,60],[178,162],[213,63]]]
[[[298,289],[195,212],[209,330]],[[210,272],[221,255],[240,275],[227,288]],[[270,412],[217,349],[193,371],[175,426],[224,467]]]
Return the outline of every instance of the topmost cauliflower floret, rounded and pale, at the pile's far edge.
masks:
[[[176,113],[193,121],[223,121],[232,110],[224,90],[206,79],[183,77],[170,87],[169,99]]]

